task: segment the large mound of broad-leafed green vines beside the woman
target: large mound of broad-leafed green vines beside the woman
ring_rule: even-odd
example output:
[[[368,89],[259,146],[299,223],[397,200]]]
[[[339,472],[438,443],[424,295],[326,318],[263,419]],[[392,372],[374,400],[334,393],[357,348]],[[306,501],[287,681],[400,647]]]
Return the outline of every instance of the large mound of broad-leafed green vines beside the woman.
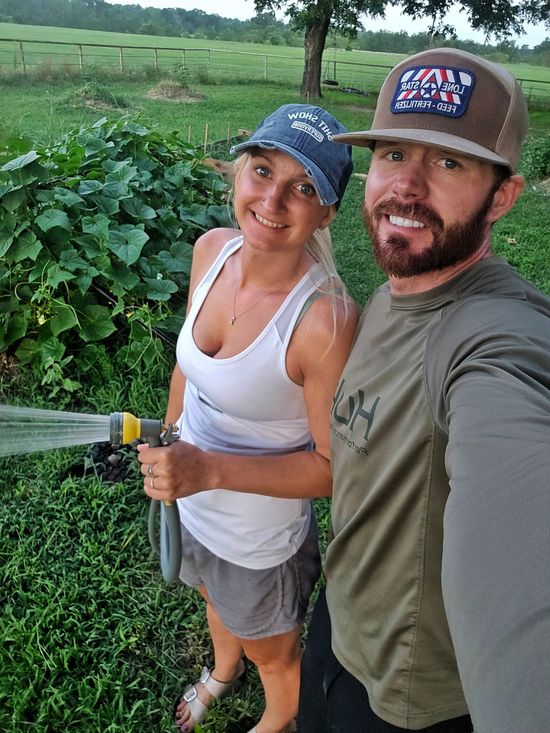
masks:
[[[98,342],[150,364],[183,321],[193,243],[230,223],[227,185],[127,117],[23,150],[0,168],[0,351],[68,391],[66,364],[85,370]]]

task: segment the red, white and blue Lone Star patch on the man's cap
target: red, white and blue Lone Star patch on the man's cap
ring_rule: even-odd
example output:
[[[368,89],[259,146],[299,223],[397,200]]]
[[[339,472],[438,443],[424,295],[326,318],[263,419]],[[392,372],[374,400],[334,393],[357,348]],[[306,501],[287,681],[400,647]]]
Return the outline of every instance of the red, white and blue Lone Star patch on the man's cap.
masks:
[[[462,117],[474,84],[471,71],[452,66],[409,67],[399,77],[390,109]]]

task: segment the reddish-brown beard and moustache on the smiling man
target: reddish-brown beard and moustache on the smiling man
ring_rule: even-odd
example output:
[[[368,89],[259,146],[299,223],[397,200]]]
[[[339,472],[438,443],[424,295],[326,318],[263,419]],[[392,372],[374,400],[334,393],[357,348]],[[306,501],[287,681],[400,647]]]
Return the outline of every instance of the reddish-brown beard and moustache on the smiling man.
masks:
[[[444,270],[466,260],[483,242],[486,214],[497,187],[490,191],[481,207],[467,221],[449,227],[445,227],[441,217],[424,204],[401,204],[395,199],[387,199],[372,211],[363,204],[363,221],[380,269],[386,275],[406,278]],[[430,227],[432,243],[422,252],[411,252],[406,235],[393,234],[382,241],[378,236],[377,223],[382,216],[389,214],[414,219]]]

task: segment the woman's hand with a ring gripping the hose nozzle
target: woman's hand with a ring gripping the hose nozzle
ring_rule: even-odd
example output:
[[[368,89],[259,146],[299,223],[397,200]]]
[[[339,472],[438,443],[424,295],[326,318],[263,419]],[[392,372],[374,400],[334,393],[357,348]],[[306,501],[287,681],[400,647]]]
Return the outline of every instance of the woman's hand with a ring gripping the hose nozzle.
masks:
[[[209,453],[184,440],[169,446],[138,445],[143,488],[151,499],[175,501],[209,487]]]

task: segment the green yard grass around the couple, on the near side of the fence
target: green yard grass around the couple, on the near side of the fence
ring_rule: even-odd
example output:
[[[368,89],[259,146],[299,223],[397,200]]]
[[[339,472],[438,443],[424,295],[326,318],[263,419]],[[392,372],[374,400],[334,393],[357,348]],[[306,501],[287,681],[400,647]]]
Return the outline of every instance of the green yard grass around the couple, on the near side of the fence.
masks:
[[[0,36],[21,28],[0,25]],[[97,39],[87,31],[25,30],[51,40],[68,34],[75,42],[79,34],[80,42]],[[100,35],[102,42],[115,42],[113,34]],[[156,45],[188,43],[137,38]],[[158,79],[4,82],[0,152],[14,137],[47,143],[100,117],[120,115],[161,132],[183,130],[202,145],[205,137],[220,140],[252,129],[280,104],[302,101],[297,85],[290,84],[193,81],[187,96],[176,101],[152,96],[158,85]],[[361,129],[370,125],[374,99],[327,88],[322,103],[350,128]],[[547,139],[549,122],[550,113],[531,113],[530,144]],[[227,157],[227,146],[217,154]],[[352,177],[331,227],[339,270],[361,305],[382,281],[360,215],[368,157],[354,149],[360,175]],[[547,194],[530,179],[519,204],[495,227],[494,241],[497,252],[550,293],[547,210]],[[150,373],[128,373],[116,356],[98,363],[71,408],[162,416],[173,353],[165,356]],[[0,403],[10,401],[58,406],[30,374],[0,359]],[[101,481],[86,448],[0,459],[0,472],[0,730],[173,730],[173,700],[208,663],[210,650],[194,593],[166,586],[151,555],[147,501],[133,459],[126,480],[114,484]],[[327,508],[327,502],[317,503],[323,532]],[[248,730],[261,710],[258,689],[252,674],[237,696],[215,708],[203,733]]]

